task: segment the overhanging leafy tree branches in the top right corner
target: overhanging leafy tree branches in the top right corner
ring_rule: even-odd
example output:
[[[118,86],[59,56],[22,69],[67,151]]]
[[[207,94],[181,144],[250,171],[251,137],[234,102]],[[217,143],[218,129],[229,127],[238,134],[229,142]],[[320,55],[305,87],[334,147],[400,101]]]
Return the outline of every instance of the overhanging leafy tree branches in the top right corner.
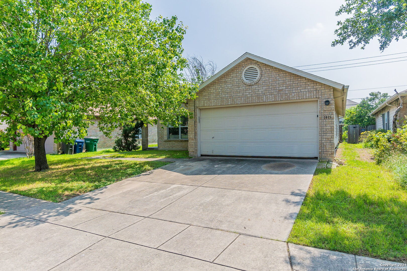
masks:
[[[343,45],[348,41],[350,49],[359,45],[364,49],[374,38],[378,37],[380,50],[398,39],[407,37],[407,2],[406,0],[346,0],[335,13],[351,14],[352,17],[338,21],[335,30],[338,39],[332,46]]]

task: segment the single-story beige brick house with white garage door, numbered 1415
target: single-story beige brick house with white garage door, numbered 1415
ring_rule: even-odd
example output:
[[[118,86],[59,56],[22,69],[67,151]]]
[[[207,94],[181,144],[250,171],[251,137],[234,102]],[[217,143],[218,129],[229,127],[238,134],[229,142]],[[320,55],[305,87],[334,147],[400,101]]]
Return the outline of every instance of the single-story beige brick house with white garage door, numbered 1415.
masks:
[[[333,160],[348,86],[245,53],[199,86],[193,119],[158,129],[159,150],[190,156]],[[148,128],[142,131],[147,137]],[[143,141],[146,148],[148,141]]]

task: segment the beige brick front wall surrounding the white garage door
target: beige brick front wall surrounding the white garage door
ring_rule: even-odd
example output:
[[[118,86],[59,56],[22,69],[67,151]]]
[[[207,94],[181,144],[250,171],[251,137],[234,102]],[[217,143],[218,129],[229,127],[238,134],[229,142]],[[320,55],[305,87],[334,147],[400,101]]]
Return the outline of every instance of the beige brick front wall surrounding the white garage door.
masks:
[[[241,74],[247,65],[258,65],[261,78],[254,85],[242,82]],[[223,105],[241,105],[284,101],[317,100],[319,107],[319,158],[333,160],[335,152],[335,130],[333,87],[324,85],[282,69],[245,59],[223,76],[201,89],[198,98],[188,102],[188,109],[197,116],[197,108]],[[325,100],[330,100],[326,106]],[[190,156],[198,155],[197,118],[188,123],[188,150]],[[165,132],[158,132],[159,145]],[[179,142],[167,142],[170,147]]]

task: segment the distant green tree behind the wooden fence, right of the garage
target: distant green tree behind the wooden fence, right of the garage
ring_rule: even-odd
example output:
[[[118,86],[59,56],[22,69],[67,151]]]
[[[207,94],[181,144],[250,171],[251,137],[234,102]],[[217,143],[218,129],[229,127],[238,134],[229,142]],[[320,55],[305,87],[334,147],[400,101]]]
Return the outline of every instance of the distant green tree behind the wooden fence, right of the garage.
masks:
[[[375,124],[376,119],[370,117],[369,114],[389,97],[389,94],[380,91],[370,92],[369,97],[364,98],[357,106],[346,109],[344,124],[359,124],[360,126]]]

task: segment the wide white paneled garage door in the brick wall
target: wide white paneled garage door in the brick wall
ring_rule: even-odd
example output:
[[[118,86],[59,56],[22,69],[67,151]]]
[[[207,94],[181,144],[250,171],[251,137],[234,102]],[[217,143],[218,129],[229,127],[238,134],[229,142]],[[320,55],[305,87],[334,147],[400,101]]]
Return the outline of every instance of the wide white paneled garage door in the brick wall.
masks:
[[[201,154],[317,157],[317,112],[316,101],[201,109]]]

